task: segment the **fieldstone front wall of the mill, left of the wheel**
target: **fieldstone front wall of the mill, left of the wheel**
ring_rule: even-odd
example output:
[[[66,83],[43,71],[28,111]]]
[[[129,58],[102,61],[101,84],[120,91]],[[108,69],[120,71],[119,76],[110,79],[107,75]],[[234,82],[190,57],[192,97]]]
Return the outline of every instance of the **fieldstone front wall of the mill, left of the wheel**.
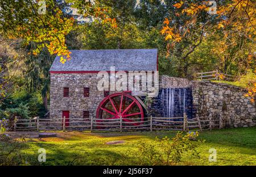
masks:
[[[69,111],[71,119],[82,118],[83,111],[94,117],[104,98],[104,92],[97,90],[97,81],[97,74],[51,74],[51,119],[61,118],[62,111]],[[63,97],[64,87],[69,87],[69,97]],[[89,97],[84,97],[84,87],[90,88]]]

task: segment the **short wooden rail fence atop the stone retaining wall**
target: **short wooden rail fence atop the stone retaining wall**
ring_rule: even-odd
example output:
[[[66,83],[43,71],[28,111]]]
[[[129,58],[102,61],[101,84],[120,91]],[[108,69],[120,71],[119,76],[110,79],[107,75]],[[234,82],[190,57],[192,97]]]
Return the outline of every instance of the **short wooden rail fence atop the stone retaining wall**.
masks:
[[[216,71],[210,71],[205,73],[197,73],[196,79],[199,79],[201,81],[212,81],[212,80],[235,81],[236,76],[221,73],[220,71],[216,70]]]

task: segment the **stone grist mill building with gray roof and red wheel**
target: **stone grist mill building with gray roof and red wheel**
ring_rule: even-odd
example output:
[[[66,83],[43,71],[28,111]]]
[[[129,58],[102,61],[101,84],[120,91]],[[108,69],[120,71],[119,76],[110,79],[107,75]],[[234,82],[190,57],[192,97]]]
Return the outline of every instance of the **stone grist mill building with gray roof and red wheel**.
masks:
[[[157,71],[157,49],[71,50],[71,60],[56,57],[51,69],[50,117],[144,117],[131,91],[98,90],[99,71]],[[141,103],[140,103],[141,102]]]

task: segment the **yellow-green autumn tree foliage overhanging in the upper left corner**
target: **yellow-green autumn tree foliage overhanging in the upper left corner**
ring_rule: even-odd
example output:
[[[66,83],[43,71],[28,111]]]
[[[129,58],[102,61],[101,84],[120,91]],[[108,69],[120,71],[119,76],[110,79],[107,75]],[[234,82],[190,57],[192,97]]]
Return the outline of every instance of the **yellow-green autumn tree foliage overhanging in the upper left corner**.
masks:
[[[47,48],[49,53],[61,56],[61,62],[64,63],[70,58],[65,36],[72,30],[74,19],[63,14],[58,1],[46,0],[45,4],[39,2],[1,0],[0,34],[9,39],[24,39],[27,45],[38,43],[33,54],[39,54],[43,48]]]

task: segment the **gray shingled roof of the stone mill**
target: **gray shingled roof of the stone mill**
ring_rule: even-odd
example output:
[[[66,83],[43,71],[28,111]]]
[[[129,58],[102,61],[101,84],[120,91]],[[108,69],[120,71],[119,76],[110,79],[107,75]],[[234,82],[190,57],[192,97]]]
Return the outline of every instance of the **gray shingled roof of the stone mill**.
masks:
[[[57,56],[50,71],[157,70],[158,49],[70,50],[71,60],[61,64]]]

